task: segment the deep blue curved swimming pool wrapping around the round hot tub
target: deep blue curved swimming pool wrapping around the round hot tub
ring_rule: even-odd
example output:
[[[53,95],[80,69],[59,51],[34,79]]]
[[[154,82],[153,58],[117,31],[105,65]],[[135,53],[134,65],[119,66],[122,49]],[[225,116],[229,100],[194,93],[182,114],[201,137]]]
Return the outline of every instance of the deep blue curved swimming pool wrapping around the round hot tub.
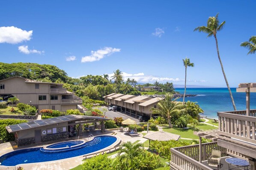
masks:
[[[95,138],[100,139],[100,142],[93,145],[80,147],[75,150],[65,150],[63,152],[42,152],[40,150],[42,147],[12,151],[1,156],[0,163],[4,166],[15,166],[18,164],[55,161],[59,159],[71,158],[102,150],[117,141],[115,136],[109,135],[97,136]]]

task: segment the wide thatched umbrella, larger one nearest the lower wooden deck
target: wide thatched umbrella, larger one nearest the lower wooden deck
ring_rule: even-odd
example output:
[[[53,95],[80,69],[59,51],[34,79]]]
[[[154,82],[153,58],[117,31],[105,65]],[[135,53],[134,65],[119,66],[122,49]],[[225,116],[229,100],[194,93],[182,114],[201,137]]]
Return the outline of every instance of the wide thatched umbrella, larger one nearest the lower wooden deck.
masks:
[[[170,141],[170,140],[176,140],[178,141],[180,138],[180,135],[176,135],[173,133],[169,132],[164,132],[164,131],[158,131],[158,132],[149,132],[143,138],[149,139],[149,144],[150,140],[152,141]]]

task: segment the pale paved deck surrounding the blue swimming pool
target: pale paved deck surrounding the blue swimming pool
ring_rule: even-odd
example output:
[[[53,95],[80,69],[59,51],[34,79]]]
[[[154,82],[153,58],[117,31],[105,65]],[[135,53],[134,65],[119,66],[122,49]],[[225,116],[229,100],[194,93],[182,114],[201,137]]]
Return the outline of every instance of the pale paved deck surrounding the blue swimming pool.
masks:
[[[119,132],[119,130],[106,130],[106,132],[101,133],[100,130],[92,130],[89,133],[84,132],[83,136],[80,136],[80,139],[86,139],[88,138],[88,135],[94,135],[94,136],[98,136],[98,135],[112,135],[115,134],[116,136],[118,136],[122,142],[126,142],[126,141],[131,141],[131,142],[135,142],[137,140],[140,140],[143,135],[140,134],[139,136],[130,136],[130,135],[125,135],[124,132]],[[31,148],[31,147],[44,147],[48,144],[53,144],[53,143],[57,143],[57,142],[61,142],[61,141],[70,141],[70,140],[76,140],[77,137],[73,137],[73,138],[68,138],[68,140],[60,140],[60,141],[54,141],[54,142],[48,142],[48,143],[41,143],[41,144],[31,144],[29,146],[22,146],[22,147],[17,147],[17,145],[15,144],[14,141],[12,142],[6,142],[3,144],[0,144],[0,156],[2,156],[3,154],[9,153],[11,151],[14,150],[20,150],[20,149],[27,149],[27,148]],[[106,148],[105,148],[106,149]],[[84,156],[77,156],[77,157],[73,157],[73,158],[66,158],[66,159],[61,159],[61,160],[56,160],[56,161],[47,161],[47,162],[38,162],[38,163],[30,163],[30,164],[20,164],[20,165],[16,165],[13,167],[9,167],[9,170],[13,170],[15,169],[15,167],[24,167],[24,170],[70,170],[74,167],[77,167],[79,164],[82,163]],[[6,170],[6,166],[1,166],[0,165],[0,169],[4,169]]]

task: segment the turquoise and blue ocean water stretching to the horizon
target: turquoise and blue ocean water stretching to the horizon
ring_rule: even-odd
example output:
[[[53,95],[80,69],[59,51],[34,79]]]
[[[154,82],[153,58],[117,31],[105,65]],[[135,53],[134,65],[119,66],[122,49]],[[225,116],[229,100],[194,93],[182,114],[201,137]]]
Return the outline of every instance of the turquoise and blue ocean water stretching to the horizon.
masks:
[[[184,88],[176,88],[177,92],[184,93]],[[231,88],[237,110],[246,109],[245,92],[236,92],[236,88]],[[217,112],[231,111],[233,105],[227,88],[187,88],[186,94],[197,95],[187,97],[185,101],[198,102],[208,118],[218,118]],[[179,98],[178,101],[182,101]],[[256,93],[250,93],[250,109],[256,109]]]

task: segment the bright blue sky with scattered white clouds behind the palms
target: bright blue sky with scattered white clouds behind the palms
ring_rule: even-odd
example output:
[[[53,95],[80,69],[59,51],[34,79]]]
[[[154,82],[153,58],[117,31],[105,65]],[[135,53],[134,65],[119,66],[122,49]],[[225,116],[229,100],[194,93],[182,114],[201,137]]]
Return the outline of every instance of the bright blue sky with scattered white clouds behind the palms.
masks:
[[[52,64],[70,77],[111,74],[138,82],[225,87],[214,37],[193,32],[219,12],[220,57],[231,87],[255,82],[255,0],[44,0],[0,2],[0,61]],[[67,61],[69,60],[69,61]]]

